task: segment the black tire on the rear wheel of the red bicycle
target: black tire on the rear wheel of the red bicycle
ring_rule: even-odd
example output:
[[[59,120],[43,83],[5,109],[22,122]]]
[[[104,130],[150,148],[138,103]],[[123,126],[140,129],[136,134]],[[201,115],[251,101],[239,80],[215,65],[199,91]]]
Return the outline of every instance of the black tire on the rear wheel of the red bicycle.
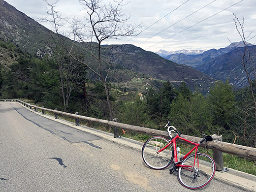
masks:
[[[211,158],[211,156],[209,156],[207,154],[204,154],[204,153],[197,153],[197,155],[207,157],[210,160],[210,162],[212,164],[212,173],[211,173],[211,175],[209,176],[209,179],[206,182],[204,182],[203,184],[200,184],[199,186],[193,186],[192,187],[192,186],[189,186],[188,184],[184,183],[183,179],[181,178],[182,167],[180,167],[179,170],[178,170],[178,180],[179,180],[179,182],[181,183],[182,186],[184,186],[188,189],[191,189],[191,190],[200,189],[200,188],[205,187],[206,185],[208,185],[211,182],[211,180],[213,179],[213,177],[215,175],[215,171],[216,171],[216,165],[215,165],[214,160]],[[190,155],[181,164],[186,164],[186,161],[188,161],[190,158],[192,158],[192,160],[194,160],[194,156],[195,156],[195,154]]]

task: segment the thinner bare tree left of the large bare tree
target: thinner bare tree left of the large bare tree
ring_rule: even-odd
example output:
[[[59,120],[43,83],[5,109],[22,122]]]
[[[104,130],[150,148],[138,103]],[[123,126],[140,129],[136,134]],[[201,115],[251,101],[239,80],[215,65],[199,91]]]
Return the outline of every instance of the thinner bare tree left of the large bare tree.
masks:
[[[51,53],[48,54],[48,60],[52,63],[55,69],[58,70],[60,89],[63,97],[64,111],[68,107],[69,98],[72,91],[81,87],[86,79],[86,66],[81,66],[78,62],[74,61],[64,49],[67,42],[67,37],[60,34],[60,30],[63,28],[66,18],[62,18],[58,11],[55,10],[57,0],[54,3],[49,3],[44,0],[47,5],[47,14],[51,16],[51,19],[42,18],[41,21],[50,22],[56,34],[51,33],[51,41],[48,46],[51,49]]]

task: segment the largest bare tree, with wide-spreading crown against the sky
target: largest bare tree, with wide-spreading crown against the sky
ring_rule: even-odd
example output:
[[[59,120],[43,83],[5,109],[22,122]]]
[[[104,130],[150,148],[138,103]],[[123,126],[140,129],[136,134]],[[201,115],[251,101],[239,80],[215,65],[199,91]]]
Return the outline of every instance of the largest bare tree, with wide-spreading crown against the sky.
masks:
[[[84,20],[73,20],[73,33],[77,41],[88,43],[90,42],[90,51],[97,62],[97,67],[88,64],[76,58],[71,54],[71,57],[85,64],[102,82],[107,99],[107,105],[110,113],[110,120],[113,119],[113,111],[110,102],[109,84],[107,77],[111,69],[111,62],[103,62],[101,57],[102,42],[107,39],[120,39],[125,36],[136,36],[140,30],[140,25],[127,24],[129,16],[122,12],[122,7],[126,4],[124,0],[113,0],[109,4],[101,3],[101,0],[79,0],[83,9],[87,13]],[[97,47],[93,46],[93,42],[97,42]],[[103,67],[107,65],[107,67]],[[106,71],[103,73],[104,68]],[[105,74],[105,75],[104,75]]]

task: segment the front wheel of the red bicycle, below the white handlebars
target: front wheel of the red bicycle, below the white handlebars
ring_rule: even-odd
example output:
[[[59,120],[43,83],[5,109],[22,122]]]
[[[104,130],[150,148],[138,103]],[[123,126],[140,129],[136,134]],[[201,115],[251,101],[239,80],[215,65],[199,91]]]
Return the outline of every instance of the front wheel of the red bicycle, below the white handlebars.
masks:
[[[153,169],[164,169],[169,166],[173,160],[173,147],[169,145],[162,152],[160,149],[169,144],[164,137],[155,136],[148,139],[142,147],[142,159],[149,167]]]

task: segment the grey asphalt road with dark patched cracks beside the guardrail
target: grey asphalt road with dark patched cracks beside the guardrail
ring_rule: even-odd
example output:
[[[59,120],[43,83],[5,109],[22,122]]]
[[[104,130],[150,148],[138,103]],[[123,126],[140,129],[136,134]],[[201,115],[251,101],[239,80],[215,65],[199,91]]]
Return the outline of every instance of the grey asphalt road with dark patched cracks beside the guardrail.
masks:
[[[140,151],[0,102],[0,192],[188,192]],[[200,191],[242,192],[212,180]]]

